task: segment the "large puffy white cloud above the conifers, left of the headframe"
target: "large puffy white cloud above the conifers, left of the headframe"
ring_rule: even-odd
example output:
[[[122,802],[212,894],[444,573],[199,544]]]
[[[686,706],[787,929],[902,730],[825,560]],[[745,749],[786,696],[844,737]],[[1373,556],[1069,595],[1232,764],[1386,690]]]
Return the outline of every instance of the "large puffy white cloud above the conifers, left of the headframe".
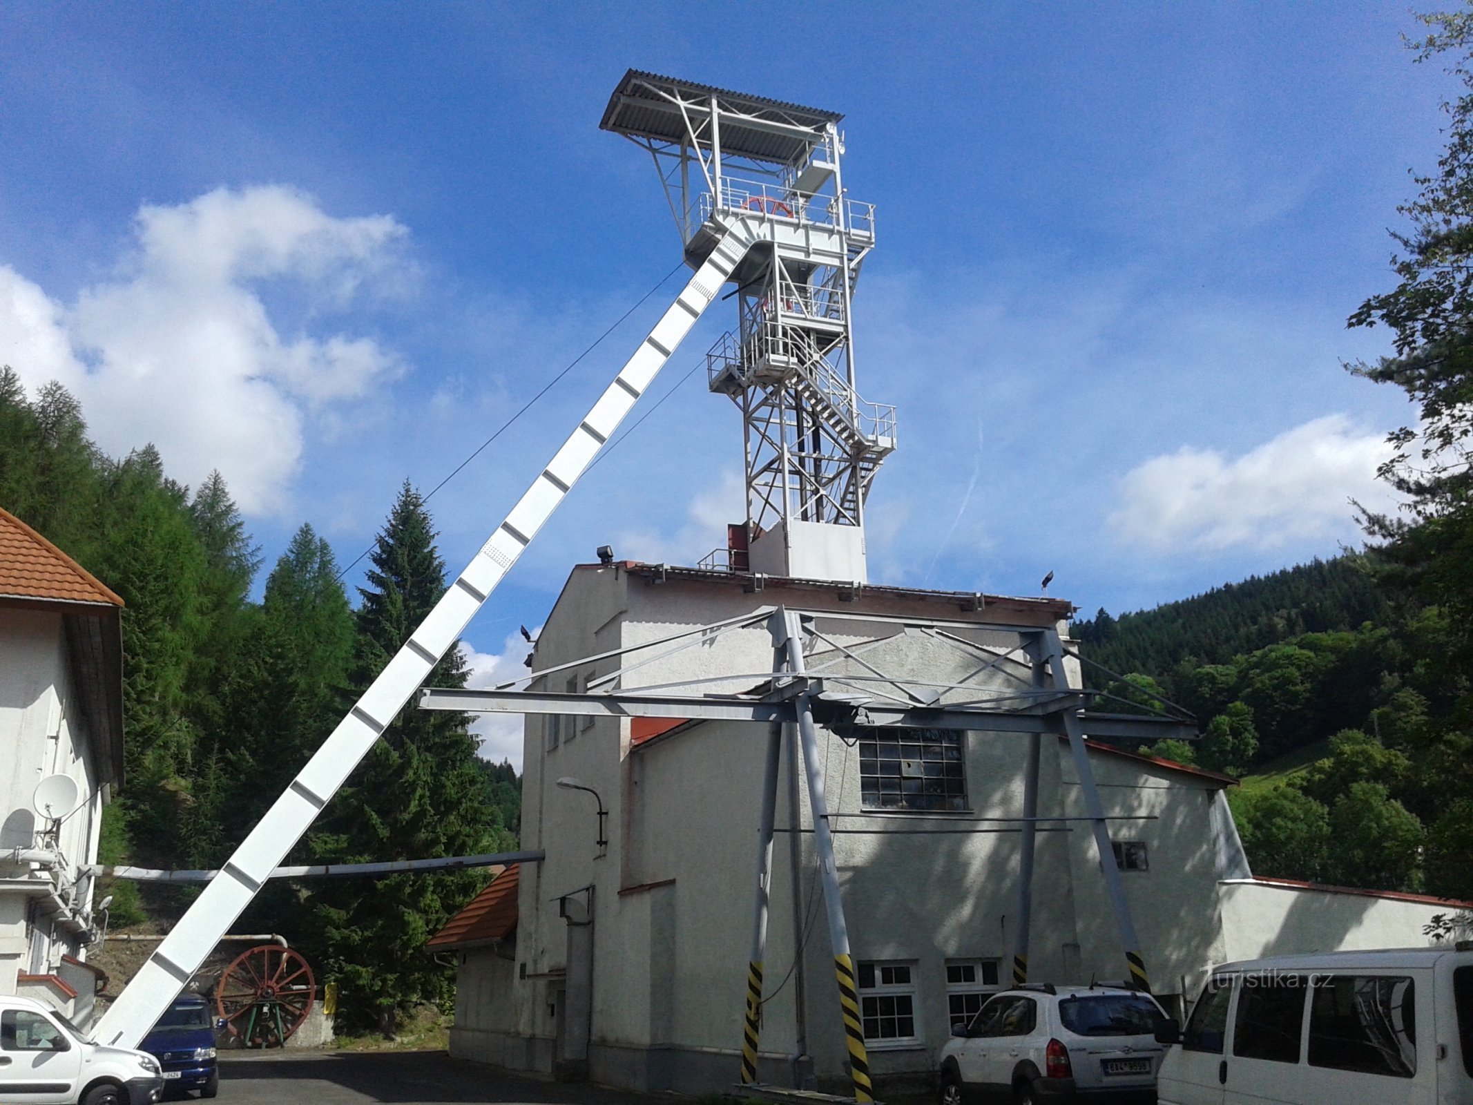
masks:
[[[181,482],[219,469],[246,514],[281,510],[303,424],[402,365],[371,337],[283,333],[264,286],[289,284],[306,317],[343,309],[392,278],[405,228],[271,186],[143,206],[133,231],[127,259],[71,308],[0,267],[0,361],[77,393],[105,451],[153,442]]]

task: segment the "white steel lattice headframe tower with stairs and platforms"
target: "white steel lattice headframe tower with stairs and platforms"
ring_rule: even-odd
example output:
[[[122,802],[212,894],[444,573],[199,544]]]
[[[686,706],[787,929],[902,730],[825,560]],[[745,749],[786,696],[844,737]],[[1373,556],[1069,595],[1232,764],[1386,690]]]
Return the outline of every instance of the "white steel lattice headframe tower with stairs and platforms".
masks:
[[[604,119],[654,158],[688,256],[709,248],[713,214],[756,218],[738,329],[707,354],[710,389],[742,414],[748,541],[779,523],[863,526],[896,448],[894,407],[856,387],[851,302],[875,220],[844,190],[840,118],[630,72]]]

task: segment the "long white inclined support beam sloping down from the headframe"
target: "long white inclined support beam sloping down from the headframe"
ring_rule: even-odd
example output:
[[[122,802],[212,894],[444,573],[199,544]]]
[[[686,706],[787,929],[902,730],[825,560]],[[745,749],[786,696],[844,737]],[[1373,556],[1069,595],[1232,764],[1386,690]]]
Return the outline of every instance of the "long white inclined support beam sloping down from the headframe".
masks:
[[[613,436],[635,401],[650,387],[695,320],[710,306],[756,239],[754,230],[744,218],[728,220],[719,230],[720,239],[714,250],[681,289],[675,302],[594,408],[569,435],[546,469],[511,508],[507,520],[496,527],[404,648],[379,673],[292,785],[236,849],[221,868],[221,877],[205,887],[158,950],[149,956],[143,969],[103,1014],[93,1031],[96,1042],[122,1048],[137,1046],[379,740],[379,734],[455,644],[461,631],[563,502],[569,489],[588,470],[594,455]]]

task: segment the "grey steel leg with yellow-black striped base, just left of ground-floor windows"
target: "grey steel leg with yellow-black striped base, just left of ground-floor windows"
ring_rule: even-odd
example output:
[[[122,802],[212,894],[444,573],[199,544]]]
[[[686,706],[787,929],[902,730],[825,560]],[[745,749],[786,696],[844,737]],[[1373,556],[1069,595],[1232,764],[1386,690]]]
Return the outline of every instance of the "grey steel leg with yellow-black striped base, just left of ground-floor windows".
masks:
[[[779,628],[781,626],[781,628]],[[795,613],[778,607],[773,631],[787,641],[788,672],[798,679],[806,675],[803,663],[803,626]],[[856,1102],[872,1102],[869,1052],[865,1049],[865,1028],[859,1012],[859,987],[854,983],[854,959],[848,952],[848,925],[844,922],[844,902],[840,897],[838,865],[834,860],[834,837],[828,824],[828,799],[823,794],[823,762],[819,759],[819,738],[813,726],[813,704],[807,691],[794,700],[798,715],[798,740],[803,746],[803,774],[809,781],[809,806],[813,809],[813,846],[818,852],[819,878],[823,881],[823,908],[828,912],[829,943],[834,947],[834,972],[838,978],[838,999],[848,1046],[848,1071]]]

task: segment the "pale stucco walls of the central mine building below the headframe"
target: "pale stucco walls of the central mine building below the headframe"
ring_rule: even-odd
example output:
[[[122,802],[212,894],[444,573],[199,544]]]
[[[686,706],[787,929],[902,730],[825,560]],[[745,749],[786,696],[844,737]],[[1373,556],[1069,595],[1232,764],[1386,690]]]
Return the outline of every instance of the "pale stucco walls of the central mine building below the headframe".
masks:
[[[748,595],[738,586],[669,580],[651,583],[619,569],[580,569],[542,631],[535,670],[580,656],[635,642],[657,641],[770,606],[822,607],[844,614],[916,616],[888,595],[869,594],[863,604],[837,595]],[[957,617],[955,606],[928,610]],[[965,617],[965,614],[962,614]],[[978,620],[982,616],[977,616]],[[875,623],[825,623],[841,642],[876,635]],[[991,644],[1010,647],[1016,634],[994,634]],[[642,657],[641,657],[642,659]],[[960,681],[975,659],[929,638],[903,636],[866,656],[878,666],[913,678]],[[626,690],[655,682],[731,675],[728,690],[753,685],[772,664],[764,628],[729,632],[664,660],[627,672]],[[860,670],[847,664],[851,670]],[[605,664],[576,669],[580,678],[611,670]],[[1072,673],[1077,678],[1077,672]],[[545,690],[566,690],[567,673],[546,679]],[[999,679],[1000,685],[1015,685]],[[579,687],[582,688],[582,682]],[[753,924],[757,810],[766,729],[753,725],[704,723],[670,738],[657,738],[630,753],[629,722],[601,719],[591,729],[566,731],[546,748],[546,719],[526,725],[523,779],[523,846],[544,847],[548,857],[527,865],[520,896],[517,964],[463,967],[468,986],[501,1012],[464,1009],[465,1033],[452,1050],[476,1058],[495,1050],[473,1033],[521,1036],[549,1043],[557,1031],[551,1011],[567,984],[569,928],[557,897],[594,887],[595,955],[592,1043],[605,1053],[654,1055],[679,1049],[704,1056],[713,1070],[734,1065],[741,1039],[745,965]],[[966,779],[969,810],[962,815],[875,813],[860,810],[857,750],[825,737],[825,778],[840,828],[949,828],[950,832],[866,835],[841,832],[837,859],[856,961],[906,961],[915,965],[921,1042],[907,1048],[873,1048],[878,1076],[929,1071],[937,1048],[949,1036],[947,959],[997,959],[1008,978],[1016,919],[1019,834],[1016,825],[985,818],[1016,816],[1022,809],[1025,737],[969,734]],[[1117,835],[1146,840],[1152,869],[1127,877],[1143,943],[1171,946],[1153,977],[1171,978],[1203,969],[1220,956],[1217,872],[1208,828],[1209,788],[1198,779],[1136,760],[1093,754],[1108,812],[1161,818],[1142,821]],[[572,775],[600,791],[610,809],[607,855],[594,846],[597,821],[591,796],[560,790]],[[1068,748],[1044,738],[1040,812],[1083,813]],[[807,793],[800,788],[800,825],[809,828]],[[792,825],[788,809],[787,756],[779,779],[779,829]],[[1125,972],[1119,939],[1103,897],[1087,825],[1068,822],[1038,834],[1034,875],[1031,974],[1061,983]],[[965,831],[955,831],[965,829]],[[990,829],[990,831],[975,831]],[[1183,841],[1196,841],[1189,847]],[[804,897],[813,885],[812,838],[803,837],[800,863]],[[795,986],[782,984],[792,964],[791,865],[788,837],[775,844],[766,972],[763,1052],[781,1062],[795,1040]],[[1180,871],[1178,871],[1180,869]],[[812,899],[810,899],[812,900]],[[1083,919],[1080,919],[1083,918]],[[485,953],[480,953],[485,961]],[[520,971],[524,967],[526,977]],[[843,1078],[844,1045],[838,999],[822,909],[813,913],[804,950],[809,1052],[820,1077]],[[782,989],[778,990],[779,984]],[[504,989],[501,989],[504,987]],[[776,990],[776,994],[773,994]],[[495,1027],[492,1024],[495,1022]],[[502,1027],[510,1025],[510,1027]],[[480,1037],[477,1037],[480,1039]],[[548,1052],[549,1053],[549,1052]],[[495,1059],[493,1059],[495,1061]],[[517,1064],[511,1064],[517,1065]],[[632,1068],[630,1068],[632,1070]],[[595,1071],[597,1076],[597,1071]],[[623,1068],[605,1071],[619,1081]],[[638,1074],[629,1074],[636,1084]],[[650,1076],[653,1077],[653,1076]],[[729,1080],[729,1077],[728,1077]],[[651,1083],[654,1084],[654,1083]]]

